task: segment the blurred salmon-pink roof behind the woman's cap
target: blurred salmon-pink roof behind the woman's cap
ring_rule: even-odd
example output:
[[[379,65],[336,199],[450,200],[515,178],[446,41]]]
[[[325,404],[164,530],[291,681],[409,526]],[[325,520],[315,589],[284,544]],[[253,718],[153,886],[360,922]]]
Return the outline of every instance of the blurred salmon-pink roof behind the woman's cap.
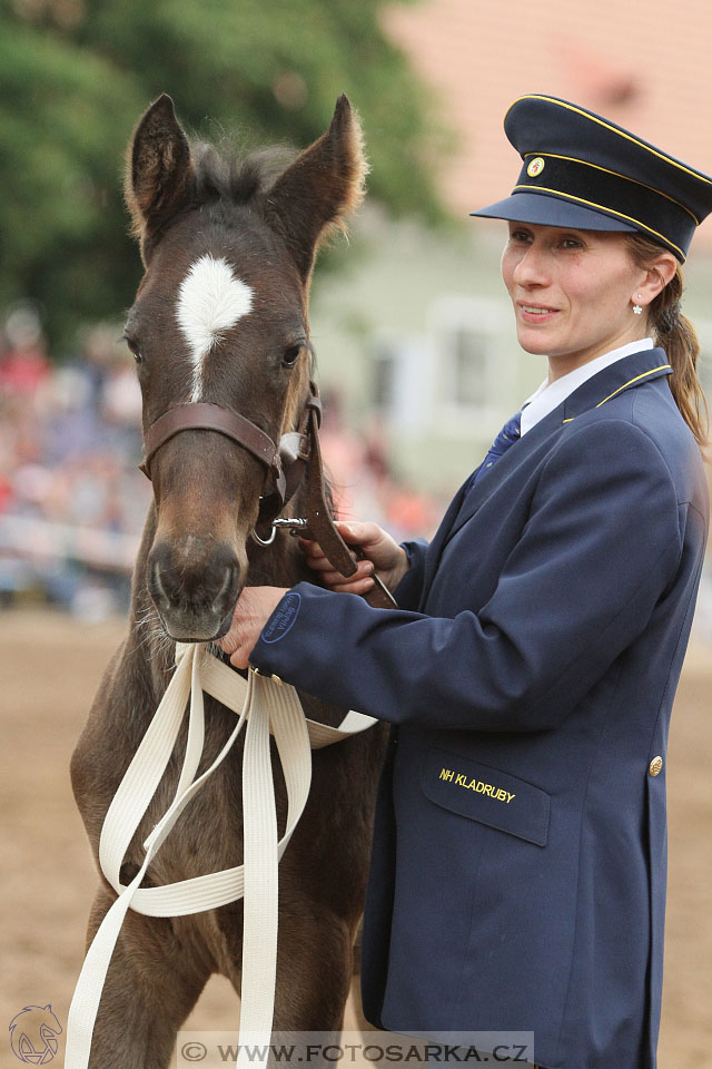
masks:
[[[712,173],[704,0],[424,0],[394,4],[387,28],[459,136],[442,188],[463,213],[513,184],[516,156],[502,120],[526,92],[581,104]],[[712,249],[712,219],[696,241]]]

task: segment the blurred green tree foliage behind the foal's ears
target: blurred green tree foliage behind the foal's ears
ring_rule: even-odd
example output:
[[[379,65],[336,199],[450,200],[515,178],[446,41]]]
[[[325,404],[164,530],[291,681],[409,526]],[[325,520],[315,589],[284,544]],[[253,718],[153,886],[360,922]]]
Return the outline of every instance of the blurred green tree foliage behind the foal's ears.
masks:
[[[140,275],[121,179],[131,129],[169,92],[195,133],[304,147],[345,91],[369,194],[442,217],[424,89],[378,22],[384,0],[0,0],[0,311],[30,297],[55,342],[120,315]]]

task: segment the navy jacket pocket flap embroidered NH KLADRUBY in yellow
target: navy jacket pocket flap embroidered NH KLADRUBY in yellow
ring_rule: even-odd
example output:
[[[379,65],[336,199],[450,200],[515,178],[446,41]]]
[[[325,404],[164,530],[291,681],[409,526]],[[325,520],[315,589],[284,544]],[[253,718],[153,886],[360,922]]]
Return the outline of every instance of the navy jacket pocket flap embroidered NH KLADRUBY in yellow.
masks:
[[[444,749],[429,749],[421,773],[431,802],[471,821],[546,845],[551,798],[534,784]]]

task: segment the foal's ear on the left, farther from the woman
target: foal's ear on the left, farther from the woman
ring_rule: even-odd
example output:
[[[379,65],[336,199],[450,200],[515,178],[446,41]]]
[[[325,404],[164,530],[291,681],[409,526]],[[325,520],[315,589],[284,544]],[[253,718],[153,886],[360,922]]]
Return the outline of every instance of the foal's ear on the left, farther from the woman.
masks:
[[[136,127],[127,155],[126,200],[145,261],[160,228],[189,203],[194,178],[188,138],[162,94]]]

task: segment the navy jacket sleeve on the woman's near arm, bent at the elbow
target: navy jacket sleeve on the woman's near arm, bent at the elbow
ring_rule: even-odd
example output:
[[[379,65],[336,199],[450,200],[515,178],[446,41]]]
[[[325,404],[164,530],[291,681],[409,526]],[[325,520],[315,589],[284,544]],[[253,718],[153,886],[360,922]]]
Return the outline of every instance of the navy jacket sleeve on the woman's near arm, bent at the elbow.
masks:
[[[552,451],[492,596],[481,605],[467,591],[478,609],[453,618],[372,609],[299,583],[250,659],[393,724],[553,728],[645,628],[681,551],[657,447],[631,423],[596,421]],[[466,559],[461,567],[466,590]],[[289,619],[271,626],[287,608]]]

